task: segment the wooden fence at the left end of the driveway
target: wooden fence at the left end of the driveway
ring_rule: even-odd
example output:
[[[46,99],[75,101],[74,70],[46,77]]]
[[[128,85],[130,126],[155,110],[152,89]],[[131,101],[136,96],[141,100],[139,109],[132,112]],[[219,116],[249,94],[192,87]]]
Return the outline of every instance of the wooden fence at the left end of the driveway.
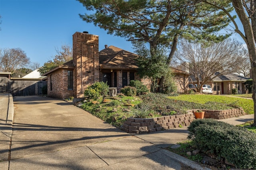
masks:
[[[42,87],[47,85],[42,80],[10,80],[0,77],[0,93],[10,93],[12,96],[42,95]]]

